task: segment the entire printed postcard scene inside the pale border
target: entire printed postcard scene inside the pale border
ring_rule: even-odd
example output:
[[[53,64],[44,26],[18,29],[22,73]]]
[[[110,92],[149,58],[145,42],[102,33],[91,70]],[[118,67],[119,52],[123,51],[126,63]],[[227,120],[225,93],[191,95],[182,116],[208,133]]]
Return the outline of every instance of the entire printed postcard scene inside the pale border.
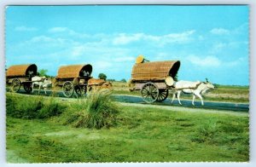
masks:
[[[5,9],[6,161],[249,161],[248,5]]]

